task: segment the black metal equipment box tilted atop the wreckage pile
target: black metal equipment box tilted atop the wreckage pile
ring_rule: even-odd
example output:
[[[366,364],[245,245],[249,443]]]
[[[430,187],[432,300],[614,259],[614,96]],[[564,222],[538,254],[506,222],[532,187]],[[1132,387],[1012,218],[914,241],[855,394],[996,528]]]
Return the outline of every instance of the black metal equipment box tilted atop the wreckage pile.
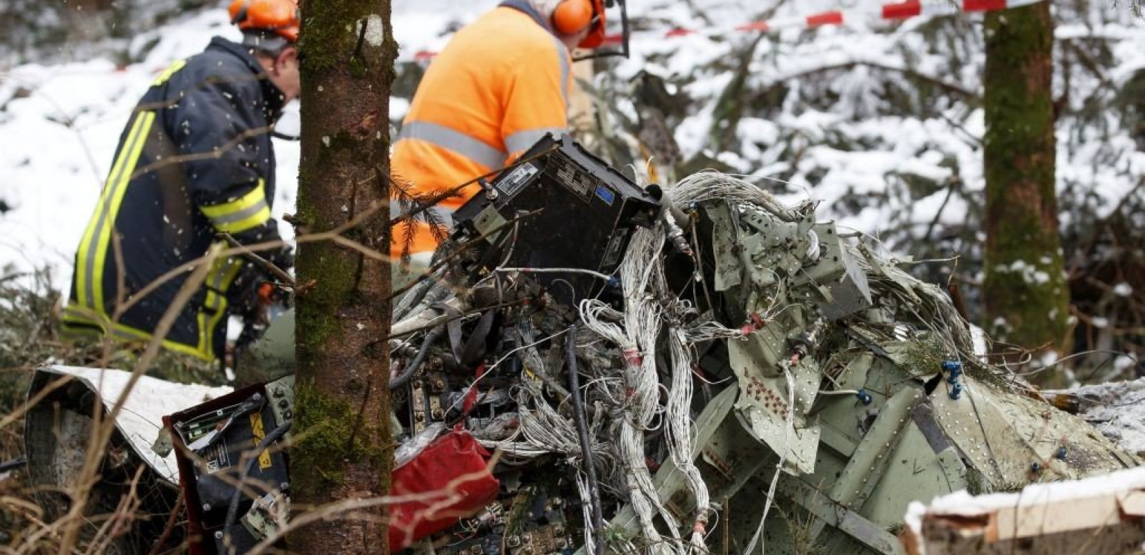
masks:
[[[546,135],[521,160],[453,213],[456,244],[487,236],[500,245],[480,261],[484,270],[572,268],[611,275],[635,228],[652,227],[660,214],[656,198],[568,135]],[[512,222],[534,211],[540,212]],[[605,285],[577,272],[534,277],[546,285],[568,280],[577,299]],[[560,288],[553,293],[563,295]]]

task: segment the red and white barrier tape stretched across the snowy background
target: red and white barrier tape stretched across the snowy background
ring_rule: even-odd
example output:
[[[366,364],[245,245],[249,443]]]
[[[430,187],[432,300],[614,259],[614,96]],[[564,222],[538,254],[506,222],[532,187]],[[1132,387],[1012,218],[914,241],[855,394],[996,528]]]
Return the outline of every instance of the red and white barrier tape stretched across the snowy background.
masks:
[[[782,17],[722,27],[705,27],[703,30],[676,27],[664,32],[645,31],[633,34],[635,37],[652,35],[650,38],[677,38],[688,35],[718,37],[729,33],[767,32],[779,31],[782,29],[815,29],[827,25],[846,25],[860,22],[890,22],[909,19],[911,17],[941,16],[957,13],[1000,11],[1044,1],[1045,0],[908,0],[905,2],[884,3],[882,6],[874,5],[868,8],[823,11],[803,17]],[[605,45],[619,45],[621,40],[622,37],[619,34],[607,35],[605,37]],[[398,62],[425,63],[433,60],[436,55],[437,53],[432,50],[418,50],[412,56],[402,56]]]

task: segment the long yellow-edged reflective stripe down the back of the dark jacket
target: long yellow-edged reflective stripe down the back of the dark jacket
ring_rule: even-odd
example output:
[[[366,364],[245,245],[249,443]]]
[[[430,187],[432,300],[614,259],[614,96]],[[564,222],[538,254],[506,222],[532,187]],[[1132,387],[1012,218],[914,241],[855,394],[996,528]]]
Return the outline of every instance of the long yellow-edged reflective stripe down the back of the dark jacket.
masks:
[[[76,267],[76,295],[80,306],[105,311],[103,299],[103,270],[106,263],[111,232],[119,205],[123,204],[127,183],[139,164],[147,135],[155,122],[155,112],[140,112],[119,150],[119,157],[108,175],[108,182],[100,195],[95,214],[88,222],[79,244]]]

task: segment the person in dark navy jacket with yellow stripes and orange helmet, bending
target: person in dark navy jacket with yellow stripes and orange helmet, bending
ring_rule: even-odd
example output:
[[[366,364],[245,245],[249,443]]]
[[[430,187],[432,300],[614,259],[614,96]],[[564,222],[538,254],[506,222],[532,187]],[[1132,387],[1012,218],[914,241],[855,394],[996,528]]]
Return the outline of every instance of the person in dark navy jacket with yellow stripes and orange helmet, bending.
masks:
[[[247,245],[279,238],[270,217],[270,132],[300,92],[298,7],[235,0],[230,15],[242,43],[214,38],[156,77],[132,112],[76,253],[65,335],[145,343],[190,272],[144,287],[202,257],[220,232]],[[293,265],[289,249],[263,254],[283,269]],[[244,259],[219,259],[163,346],[222,358],[227,316],[236,300],[246,301],[229,292],[236,280],[254,279],[251,268]]]

